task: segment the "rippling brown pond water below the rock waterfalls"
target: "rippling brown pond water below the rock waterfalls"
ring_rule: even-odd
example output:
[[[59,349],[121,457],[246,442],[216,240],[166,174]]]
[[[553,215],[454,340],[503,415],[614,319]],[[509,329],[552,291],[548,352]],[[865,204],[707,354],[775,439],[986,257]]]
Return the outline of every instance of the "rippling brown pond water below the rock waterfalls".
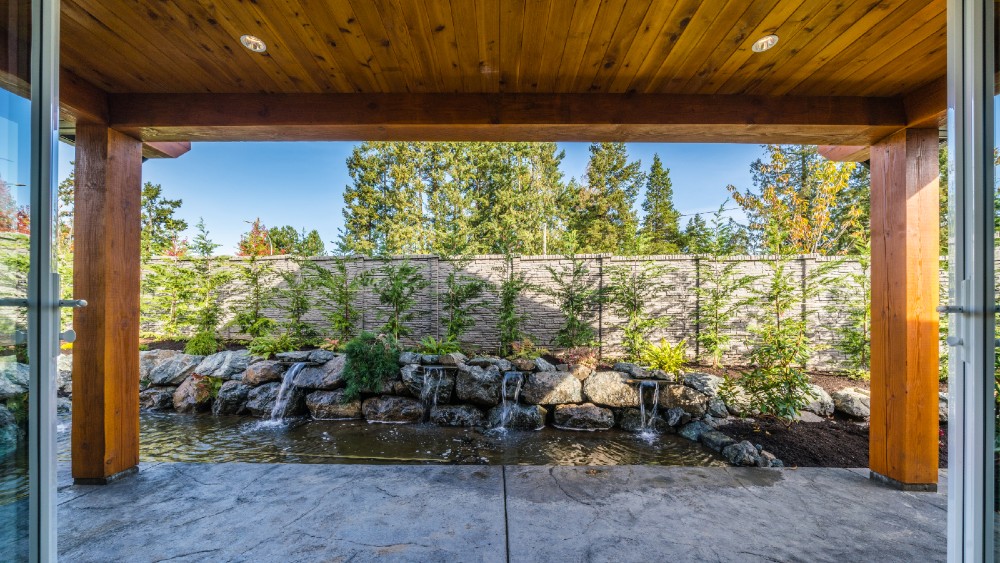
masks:
[[[70,461],[69,419],[58,426],[59,461]],[[23,448],[22,448],[23,450]],[[142,461],[222,463],[368,463],[489,465],[725,466],[701,444],[675,435],[607,430],[572,432],[546,427],[496,433],[429,424],[363,421],[271,422],[240,416],[144,412]],[[27,452],[0,460],[0,505],[27,491]]]

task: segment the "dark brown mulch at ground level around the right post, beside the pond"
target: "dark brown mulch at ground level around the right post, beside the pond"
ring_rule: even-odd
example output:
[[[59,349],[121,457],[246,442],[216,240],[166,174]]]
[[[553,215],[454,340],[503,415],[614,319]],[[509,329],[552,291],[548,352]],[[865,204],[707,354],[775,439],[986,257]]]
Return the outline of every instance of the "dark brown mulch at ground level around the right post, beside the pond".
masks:
[[[868,467],[868,426],[846,420],[799,422],[738,420],[720,428],[735,440],[760,444],[787,467]],[[938,440],[939,465],[948,467],[948,427]]]

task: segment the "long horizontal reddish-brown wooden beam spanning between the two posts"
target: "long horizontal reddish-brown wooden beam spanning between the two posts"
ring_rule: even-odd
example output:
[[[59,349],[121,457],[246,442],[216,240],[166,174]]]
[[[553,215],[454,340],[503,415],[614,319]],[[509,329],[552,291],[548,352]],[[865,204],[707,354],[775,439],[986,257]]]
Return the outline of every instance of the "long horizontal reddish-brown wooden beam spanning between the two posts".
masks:
[[[144,141],[496,140],[868,144],[898,98],[627,94],[121,94]]]

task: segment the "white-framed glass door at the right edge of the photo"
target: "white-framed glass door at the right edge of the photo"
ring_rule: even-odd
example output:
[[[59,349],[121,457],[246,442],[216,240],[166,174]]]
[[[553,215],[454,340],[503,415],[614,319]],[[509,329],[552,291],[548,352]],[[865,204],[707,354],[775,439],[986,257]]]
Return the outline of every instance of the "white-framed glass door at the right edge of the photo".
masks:
[[[948,2],[950,561],[997,556],[995,16],[994,0]]]

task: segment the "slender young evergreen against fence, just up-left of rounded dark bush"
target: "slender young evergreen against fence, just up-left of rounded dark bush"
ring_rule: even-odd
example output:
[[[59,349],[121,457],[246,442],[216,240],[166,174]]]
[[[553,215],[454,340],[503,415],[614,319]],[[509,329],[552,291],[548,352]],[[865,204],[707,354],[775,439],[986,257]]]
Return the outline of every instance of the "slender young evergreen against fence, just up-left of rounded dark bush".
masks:
[[[312,261],[305,265],[312,270],[321,310],[330,324],[330,336],[339,344],[346,343],[357,336],[361,311],[355,307],[355,300],[361,289],[371,283],[371,276],[368,272],[352,275],[346,256],[334,258],[333,268],[329,270]]]

